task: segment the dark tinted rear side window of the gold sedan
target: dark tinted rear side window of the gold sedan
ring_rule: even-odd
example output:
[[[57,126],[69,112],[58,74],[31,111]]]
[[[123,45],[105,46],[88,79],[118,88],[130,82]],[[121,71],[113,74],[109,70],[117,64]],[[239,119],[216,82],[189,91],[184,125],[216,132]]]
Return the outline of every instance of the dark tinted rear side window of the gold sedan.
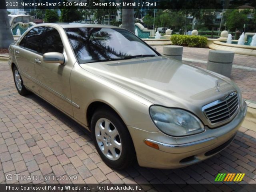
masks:
[[[41,53],[44,29],[45,27],[35,27],[30,30],[20,42],[20,46]]]

